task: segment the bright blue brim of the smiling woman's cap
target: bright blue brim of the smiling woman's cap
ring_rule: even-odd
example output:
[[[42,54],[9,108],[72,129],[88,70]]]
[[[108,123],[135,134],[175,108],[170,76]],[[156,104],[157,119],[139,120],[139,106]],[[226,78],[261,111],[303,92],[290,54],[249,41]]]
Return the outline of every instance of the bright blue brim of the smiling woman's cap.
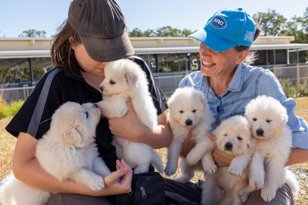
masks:
[[[204,29],[200,29],[193,34],[190,34],[188,37],[196,38],[204,45],[217,52],[225,51],[236,46],[235,43],[227,41],[209,31],[205,31]]]

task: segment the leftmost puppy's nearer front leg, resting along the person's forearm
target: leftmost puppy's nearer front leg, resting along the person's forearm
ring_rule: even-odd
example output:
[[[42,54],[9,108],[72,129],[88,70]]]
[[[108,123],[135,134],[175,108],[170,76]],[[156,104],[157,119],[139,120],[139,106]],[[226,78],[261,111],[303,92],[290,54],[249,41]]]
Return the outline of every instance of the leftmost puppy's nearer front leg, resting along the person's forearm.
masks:
[[[81,168],[79,171],[72,172],[69,175],[69,179],[90,187],[93,191],[99,191],[105,188],[104,178],[85,168]]]

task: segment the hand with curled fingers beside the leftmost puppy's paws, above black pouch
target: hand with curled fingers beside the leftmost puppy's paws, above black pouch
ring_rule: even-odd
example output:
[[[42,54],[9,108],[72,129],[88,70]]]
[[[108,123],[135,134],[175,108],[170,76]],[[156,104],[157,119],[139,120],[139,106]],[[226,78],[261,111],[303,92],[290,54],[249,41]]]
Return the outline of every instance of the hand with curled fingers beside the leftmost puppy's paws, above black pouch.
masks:
[[[97,191],[97,196],[125,194],[131,191],[132,169],[123,159],[116,160],[116,169],[117,171],[104,177],[105,188]]]

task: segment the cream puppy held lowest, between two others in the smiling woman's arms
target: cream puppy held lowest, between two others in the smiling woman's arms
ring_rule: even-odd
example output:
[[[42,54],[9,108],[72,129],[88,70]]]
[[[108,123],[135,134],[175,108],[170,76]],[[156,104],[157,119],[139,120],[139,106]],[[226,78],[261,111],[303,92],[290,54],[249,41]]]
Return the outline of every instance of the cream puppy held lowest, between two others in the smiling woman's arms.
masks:
[[[222,121],[213,132],[217,136],[217,148],[235,157],[229,168],[220,167],[215,173],[205,174],[201,204],[240,205],[246,202],[250,194],[245,189],[248,185],[246,168],[255,144],[249,128],[245,117],[233,116]]]

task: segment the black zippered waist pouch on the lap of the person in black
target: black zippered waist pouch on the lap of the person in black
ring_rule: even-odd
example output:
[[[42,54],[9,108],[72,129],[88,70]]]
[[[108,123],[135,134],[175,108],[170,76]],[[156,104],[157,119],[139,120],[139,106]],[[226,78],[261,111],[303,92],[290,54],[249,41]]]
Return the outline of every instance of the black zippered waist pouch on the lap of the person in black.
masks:
[[[158,172],[133,175],[132,191],[116,197],[118,205],[160,205],[164,199],[164,178]]]

